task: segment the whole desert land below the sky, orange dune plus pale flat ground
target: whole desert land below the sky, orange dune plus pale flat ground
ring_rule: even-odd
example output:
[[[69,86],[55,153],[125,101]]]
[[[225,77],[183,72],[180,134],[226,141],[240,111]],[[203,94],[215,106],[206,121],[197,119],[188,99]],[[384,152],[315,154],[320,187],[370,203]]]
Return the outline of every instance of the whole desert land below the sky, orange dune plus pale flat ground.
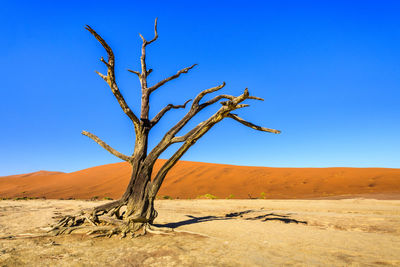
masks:
[[[156,200],[169,235],[37,237],[105,202],[84,199],[119,198],[129,176],[115,163],[1,177],[0,266],[400,266],[400,169],[181,161]]]

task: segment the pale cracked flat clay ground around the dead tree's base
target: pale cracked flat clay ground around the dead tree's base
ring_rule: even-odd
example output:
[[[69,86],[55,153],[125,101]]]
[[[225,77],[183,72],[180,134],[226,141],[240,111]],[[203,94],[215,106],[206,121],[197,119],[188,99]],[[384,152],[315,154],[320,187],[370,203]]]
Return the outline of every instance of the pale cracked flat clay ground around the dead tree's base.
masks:
[[[0,237],[43,232],[101,203],[2,200]],[[156,224],[187,232],[0,239],[0,266],[400,266],[400,200],[158,200],[156,209]]]

